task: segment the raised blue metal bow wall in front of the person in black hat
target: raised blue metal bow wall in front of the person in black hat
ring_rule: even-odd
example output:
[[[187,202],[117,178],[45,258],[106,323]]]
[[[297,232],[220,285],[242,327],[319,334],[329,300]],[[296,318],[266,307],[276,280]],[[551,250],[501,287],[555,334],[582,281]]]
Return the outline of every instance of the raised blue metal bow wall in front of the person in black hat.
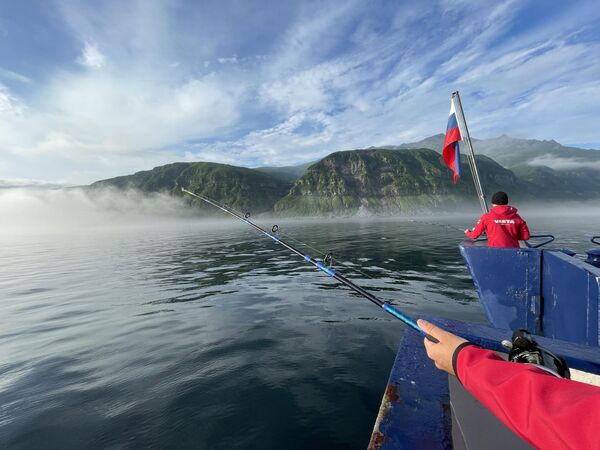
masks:
[[[465,241],[460,252],[492,325],[600,345],[600,268],[557,250]]]

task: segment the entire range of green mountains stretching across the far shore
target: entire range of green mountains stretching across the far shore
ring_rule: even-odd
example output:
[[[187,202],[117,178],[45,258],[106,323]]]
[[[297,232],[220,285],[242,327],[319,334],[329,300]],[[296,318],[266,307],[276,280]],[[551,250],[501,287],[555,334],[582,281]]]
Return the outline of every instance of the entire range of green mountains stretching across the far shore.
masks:
[[[173,163],[102,180],[90,189],[134,188],[181,195],[184,186],[240,211],[285,216],[437,211],[472,203],[475,198],[466,157],[461,180],[452,183],[440,155],[443,138],[440,134],[412,144],[334,152],[298,166],[248,169]],[[474,147],[488,194],[506,190],[517,200],[600,198],[600,164],[598,170],[594,165],[600,162],[600,151],[508,136],[474,140]],[[585,161],[583,167],[579,159]],[[546,160],[563,163],[564,168],[544,166]]]

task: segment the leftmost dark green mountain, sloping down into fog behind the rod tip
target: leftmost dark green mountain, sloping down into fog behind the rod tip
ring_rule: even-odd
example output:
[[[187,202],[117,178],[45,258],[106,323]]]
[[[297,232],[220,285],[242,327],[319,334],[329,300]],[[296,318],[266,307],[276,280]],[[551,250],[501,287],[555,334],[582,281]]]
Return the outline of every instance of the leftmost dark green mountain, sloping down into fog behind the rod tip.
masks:
[[[239,211],[272,211],[290,183],[245,167],[208,162],[173,163],[133,175],[97,181],[90,188],[112,187],[183,195],[181,187],[206,195]],[[207,209],[203,202],[198,206]],[[213,211],[214,209],[211,209]]]

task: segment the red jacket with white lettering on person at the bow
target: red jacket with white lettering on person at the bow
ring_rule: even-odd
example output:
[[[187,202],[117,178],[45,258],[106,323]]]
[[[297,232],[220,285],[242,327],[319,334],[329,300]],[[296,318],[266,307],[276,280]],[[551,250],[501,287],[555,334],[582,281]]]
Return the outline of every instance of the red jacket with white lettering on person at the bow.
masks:
[[[465,233],[471,239],[477,239],[487,233],[489,247],[519,248],[519,240],[529,239],[527,222],[517,214],[517,208],[497,205],[489,213],[479,218],[473,231]]]

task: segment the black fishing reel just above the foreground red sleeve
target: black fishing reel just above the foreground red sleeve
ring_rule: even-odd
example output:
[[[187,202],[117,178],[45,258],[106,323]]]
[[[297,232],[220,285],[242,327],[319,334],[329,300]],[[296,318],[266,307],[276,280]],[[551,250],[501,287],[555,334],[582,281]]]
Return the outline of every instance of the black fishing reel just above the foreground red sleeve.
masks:
[[[564,358],[540,347],[525,329],[515,330],[512,342],[502,341],[502,346],[510,350],[508,360],[511,362],[531,364],[559,378],[571,378]]]

